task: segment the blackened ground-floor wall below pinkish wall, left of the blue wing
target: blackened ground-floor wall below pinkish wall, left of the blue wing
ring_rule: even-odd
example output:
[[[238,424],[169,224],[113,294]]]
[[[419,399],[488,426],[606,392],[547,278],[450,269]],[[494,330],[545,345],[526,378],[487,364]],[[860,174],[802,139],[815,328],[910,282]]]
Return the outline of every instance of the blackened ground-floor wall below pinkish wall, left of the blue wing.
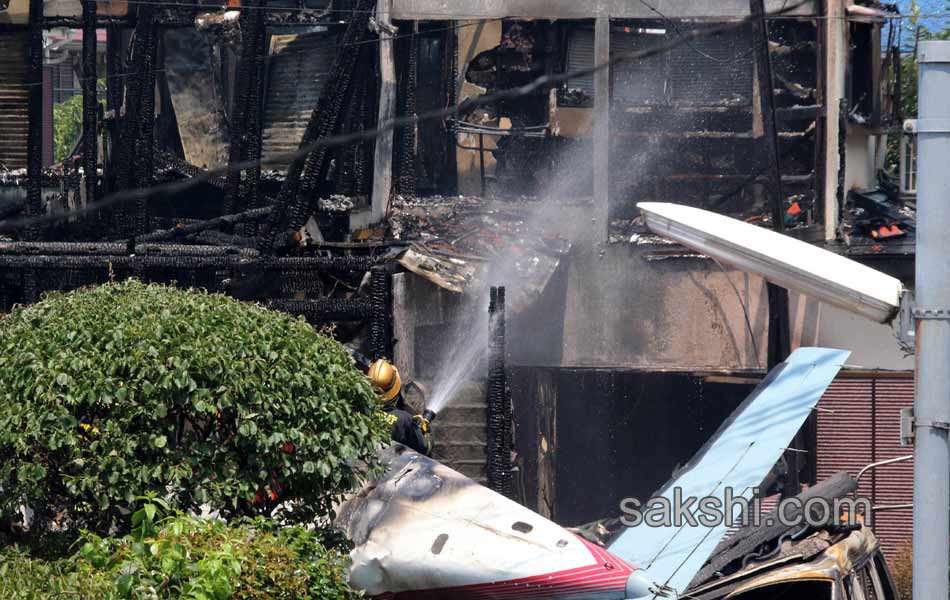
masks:
[[[623,498],[649,498],[755,383],[729,381],[682,373],[513,368],[521,467],[516,488],[526,506],[573,526],[618,516]],[[539,469],[539,461],[547,465]]]

